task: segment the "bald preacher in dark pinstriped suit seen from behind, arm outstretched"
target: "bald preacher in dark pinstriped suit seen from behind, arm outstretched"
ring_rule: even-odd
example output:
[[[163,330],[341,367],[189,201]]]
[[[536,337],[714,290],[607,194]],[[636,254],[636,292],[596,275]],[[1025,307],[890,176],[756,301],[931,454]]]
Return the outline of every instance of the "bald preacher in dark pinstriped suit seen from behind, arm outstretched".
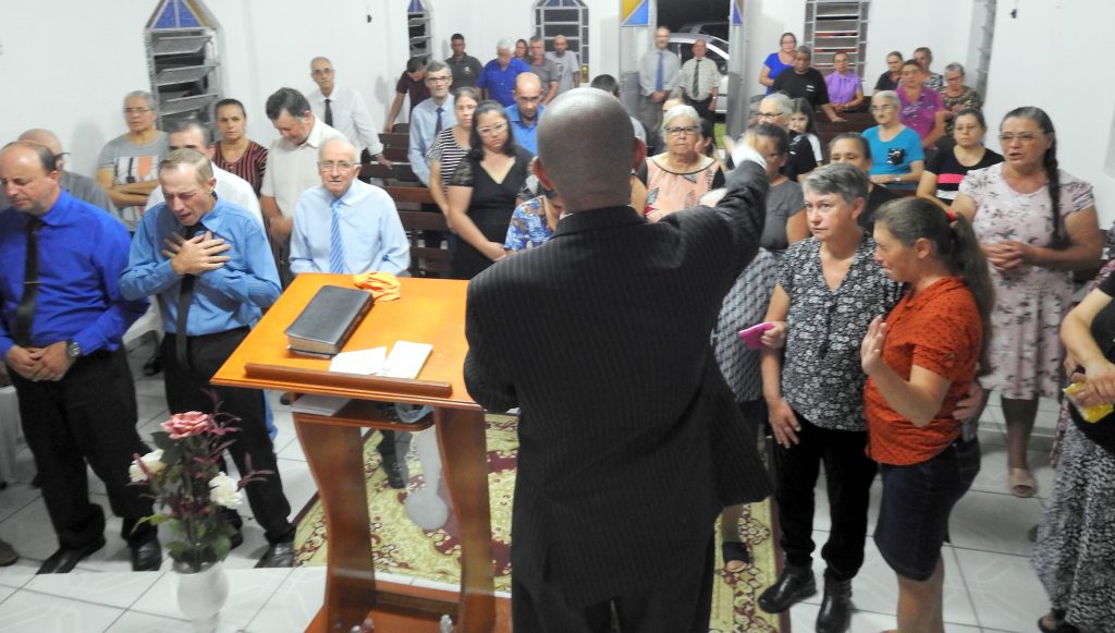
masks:
[[[768,483],[709,347],[758,248],[767,182],[648,224],[628,207],[646,147],[611,95],[571,90],[536,173],[571,214],[468,286],[468,391],[518,406],[515,631],[708,631],[712,526]]]

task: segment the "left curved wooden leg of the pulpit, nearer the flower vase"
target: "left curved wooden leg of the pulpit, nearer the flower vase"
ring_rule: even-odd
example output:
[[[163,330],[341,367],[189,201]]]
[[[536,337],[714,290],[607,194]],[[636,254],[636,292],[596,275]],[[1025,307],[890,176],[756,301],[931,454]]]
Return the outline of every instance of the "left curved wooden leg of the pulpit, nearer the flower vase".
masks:
[[[376,604],[361,429],[303,422],[298,413],[294,424],[329,534],[326,631],[347,632]]]

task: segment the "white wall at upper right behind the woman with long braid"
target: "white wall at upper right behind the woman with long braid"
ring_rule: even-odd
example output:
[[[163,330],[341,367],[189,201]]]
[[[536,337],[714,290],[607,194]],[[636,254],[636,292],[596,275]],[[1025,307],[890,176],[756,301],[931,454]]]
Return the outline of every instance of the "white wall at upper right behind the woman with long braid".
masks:
[[[1011,109],[1036,105],[1057,128],[1060,167],[1095,188],[1099,226],[1115,220],[1115,83],[1099,59],[1112,50],[1109,2],[1018,0],[1018,17],[999,3],[985,114],[997,128]],[[1101,52],[1103,49],[1103,52]],[[1077,71],[1073,69],[1078,68]],[[990,138],[988,146],[999,148]]]

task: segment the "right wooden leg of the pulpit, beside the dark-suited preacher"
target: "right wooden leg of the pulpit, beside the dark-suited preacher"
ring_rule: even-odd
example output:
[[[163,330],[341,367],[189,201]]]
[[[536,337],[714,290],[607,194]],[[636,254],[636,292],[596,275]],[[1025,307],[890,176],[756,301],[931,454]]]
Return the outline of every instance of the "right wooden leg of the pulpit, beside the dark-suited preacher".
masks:
[[[457,631],[487,633],[495,625],[495,582],[484,413],[439,407],[435,415],[444,476],[460,526]]]

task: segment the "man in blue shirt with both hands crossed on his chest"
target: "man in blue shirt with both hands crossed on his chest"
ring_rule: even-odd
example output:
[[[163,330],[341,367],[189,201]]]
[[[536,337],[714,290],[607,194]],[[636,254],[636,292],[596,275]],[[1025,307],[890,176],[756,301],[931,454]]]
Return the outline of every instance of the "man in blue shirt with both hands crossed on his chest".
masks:
[[[294,563],[294,525],[282,490],[274,447],[264,426],[263,393],[210,383],[252,327],[279,298],[279,272],[266,236],[251,213],[216,196],[204,154],[175,150],[158,165],[166,202],[144,213],[120,275],[125,297],[158,296],[163,313],[164,385],[172,412],[221,410],[240,418],[229,448],[240,472],[271,474],[244,488],[252,515],[270,543],[258,567]],[[230,517],[239,529],[237,517]],[[233,538],[233,546],[242,537]]]

